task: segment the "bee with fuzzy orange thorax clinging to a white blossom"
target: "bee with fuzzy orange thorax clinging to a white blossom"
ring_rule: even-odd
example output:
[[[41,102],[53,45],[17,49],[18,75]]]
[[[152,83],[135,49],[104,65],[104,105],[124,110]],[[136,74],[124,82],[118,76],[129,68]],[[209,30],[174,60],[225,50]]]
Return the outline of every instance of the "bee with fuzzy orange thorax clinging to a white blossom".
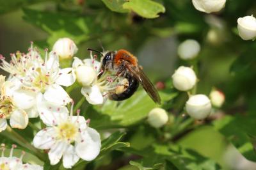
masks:
[[[109,52],[88,50],[98,52],[102,56],[103,72],[114,72],[118,77],[124,77],[128,81],[127,88],[122,93],[111,93],[109,99],[116,101],[125,100],[131,97],[138,89],[139,84],[141,84],[149,97],[155,103],[161,104],[161,98],[157,93],[157,89],[143,72],[142,67],[138,65],[138,59],[130,52],[124,49]]]

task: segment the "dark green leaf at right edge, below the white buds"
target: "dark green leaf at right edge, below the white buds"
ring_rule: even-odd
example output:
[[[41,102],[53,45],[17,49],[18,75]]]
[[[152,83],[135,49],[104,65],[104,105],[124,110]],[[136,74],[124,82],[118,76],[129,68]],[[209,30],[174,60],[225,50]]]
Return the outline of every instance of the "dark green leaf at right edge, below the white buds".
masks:
[[[255,115],[225,116],[225,118],[214,122],[214,128],[225,135],[244,157],[252,161],[256,161],[255,125]]]

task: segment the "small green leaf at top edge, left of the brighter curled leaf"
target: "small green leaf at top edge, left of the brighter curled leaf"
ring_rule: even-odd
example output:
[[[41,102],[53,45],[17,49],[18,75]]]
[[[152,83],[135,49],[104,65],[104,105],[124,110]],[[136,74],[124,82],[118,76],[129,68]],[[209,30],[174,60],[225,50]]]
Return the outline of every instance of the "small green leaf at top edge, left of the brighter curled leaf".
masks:
[[[123,8],[123,4],[126,0],[102,0],[104,4],[113,12],[125,13],[129,12],[129,10],[125,10]]]

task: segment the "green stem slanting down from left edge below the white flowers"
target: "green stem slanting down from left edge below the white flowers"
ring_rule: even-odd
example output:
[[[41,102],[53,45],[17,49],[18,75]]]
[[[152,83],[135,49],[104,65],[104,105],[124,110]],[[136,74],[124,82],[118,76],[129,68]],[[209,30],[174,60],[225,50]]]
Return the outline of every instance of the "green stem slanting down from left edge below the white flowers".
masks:
[[[38,151],[34,146],[32,146],[26,139],[24,139],[20,134],[15,132],[9,125],[7,126],[6,130],[1,133],[5,137],[8,137],[15,143],[20,144],[20,146],[23,146],[24,148],[27,148],[29,151],[33,152],[36,157],[40,158],[41,160],[45,161],[45,156],[43,153]]]

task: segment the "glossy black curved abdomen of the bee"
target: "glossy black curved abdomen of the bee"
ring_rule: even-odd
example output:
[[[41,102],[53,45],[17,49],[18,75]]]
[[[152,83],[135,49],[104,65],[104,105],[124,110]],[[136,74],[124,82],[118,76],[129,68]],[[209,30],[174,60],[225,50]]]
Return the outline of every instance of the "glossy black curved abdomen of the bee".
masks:
[[[135,79],[131,75],[125,76],[125,78],[128,79],[128,82],[129,82],[128,88],[123,93],[120,93],[120,94],[112,93],[111,95],[109,95],[110,100],[115,100],[115,101],[125,100],[131,97],[133,93],[138,89],[139,82],[137,79]]]

